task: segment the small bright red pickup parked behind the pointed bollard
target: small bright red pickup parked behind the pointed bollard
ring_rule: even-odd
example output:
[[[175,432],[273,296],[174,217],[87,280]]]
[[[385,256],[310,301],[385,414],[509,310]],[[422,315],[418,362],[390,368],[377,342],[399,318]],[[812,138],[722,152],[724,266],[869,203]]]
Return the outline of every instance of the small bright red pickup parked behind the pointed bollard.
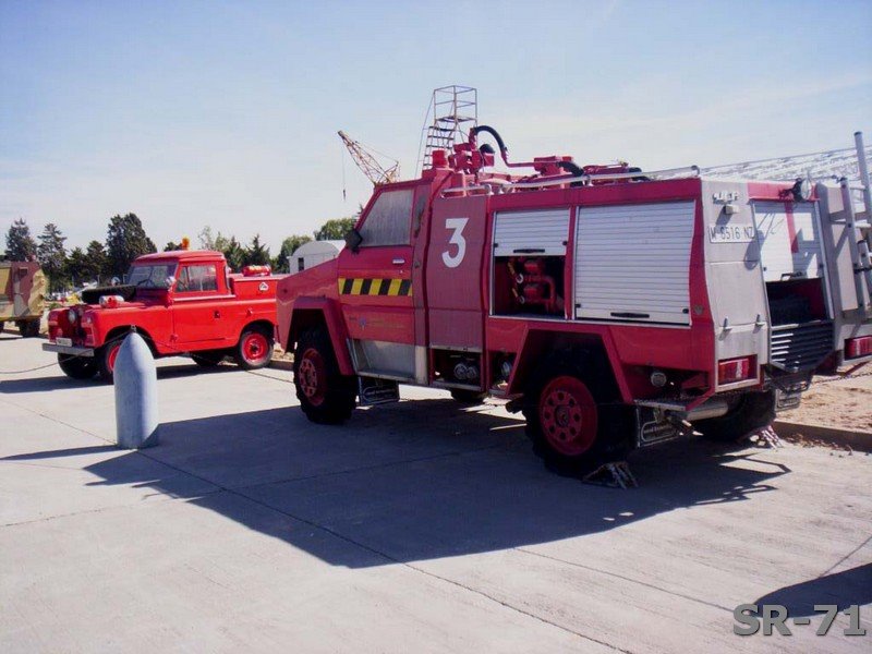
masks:
[[[50,312],[43,349],[74,379],[111,382],[121,341],[135,329],[156,358],[190,353],[210,367],[230,355],[259,368],[272,356],[278,280],[267,266],[230,274],[220,252],[147,254],[125,284],[87,289],[83,304]]]

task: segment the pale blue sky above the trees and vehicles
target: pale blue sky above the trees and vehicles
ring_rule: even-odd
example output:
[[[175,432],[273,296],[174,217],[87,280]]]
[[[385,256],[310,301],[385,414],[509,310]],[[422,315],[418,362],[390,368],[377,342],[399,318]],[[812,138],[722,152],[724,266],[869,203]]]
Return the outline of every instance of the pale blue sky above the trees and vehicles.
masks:
[[[872,141],[872,0],[0,0],[0,228],[159,245],[352,214],[336,131],[414,171],[431,92],[479,88],[513,158],[716,165]],[[195,241],[196,242],[196,241]]]

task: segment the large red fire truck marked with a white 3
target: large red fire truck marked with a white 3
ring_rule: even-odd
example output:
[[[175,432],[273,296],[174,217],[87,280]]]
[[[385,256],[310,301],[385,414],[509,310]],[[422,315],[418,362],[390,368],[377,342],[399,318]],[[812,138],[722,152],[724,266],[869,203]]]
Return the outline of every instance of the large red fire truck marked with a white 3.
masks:
[[[692,428],[735,439],[872,359],[855,208],[846,184],[512,164],[477,126],[279,282],[278,335],[317,423],[413,384],[508,400],[573,471]]]

